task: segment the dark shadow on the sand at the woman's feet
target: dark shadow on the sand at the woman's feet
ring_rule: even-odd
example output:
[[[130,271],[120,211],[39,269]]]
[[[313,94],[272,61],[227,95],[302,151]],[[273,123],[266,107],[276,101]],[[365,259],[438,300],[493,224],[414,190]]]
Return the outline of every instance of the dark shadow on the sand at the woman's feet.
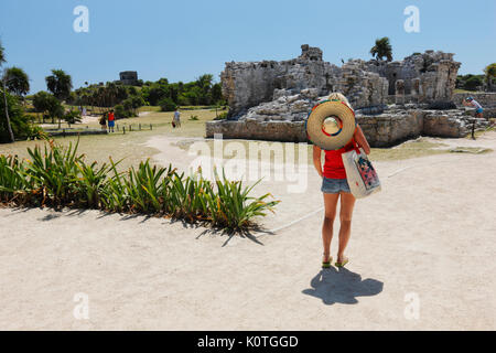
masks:
[[[355,304],[358,302],[356,297],[376,296],[382,291],[382,282],[376,279],[364,279],[362,276],[349,271],[348,269],[335,267],[322,269],[312,280],[312,288],[304,289],[302,292],[308,296],[322,299],[322,301],[332,306],[336,302],[344,304]]]

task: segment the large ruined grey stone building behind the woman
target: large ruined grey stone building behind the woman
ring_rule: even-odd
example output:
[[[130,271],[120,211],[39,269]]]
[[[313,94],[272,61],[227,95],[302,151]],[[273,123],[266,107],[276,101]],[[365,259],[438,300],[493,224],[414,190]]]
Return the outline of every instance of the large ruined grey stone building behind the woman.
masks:
[[[461,63],[454,54],[425,51],[402,61],[351,60],[341,67],[306,44],[296,58],[226,63],[220,74],[229,105],[226,120],[209,121],[206,136],[273,141],[306,141],[311,108],[332,92],[343,93],[373,147],[388,147],[420,135],[464,137],[472,125],[453,95]],[[465,95],[466,96],[466,95]],[[488,115],[494,94],[477,96]],[[477,122],[484,128],[486,121]]]

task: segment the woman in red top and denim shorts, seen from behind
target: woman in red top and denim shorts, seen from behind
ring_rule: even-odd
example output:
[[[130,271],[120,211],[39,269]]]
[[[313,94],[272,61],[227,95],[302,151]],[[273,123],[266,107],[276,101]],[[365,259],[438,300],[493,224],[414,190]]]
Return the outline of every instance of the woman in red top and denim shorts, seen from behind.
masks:
[[[339,93],[333,93],[328,97],[330,100],[338,99],[346,103],[351,108],[348,100]],[[352,108],[353,109],[353,108]],[[362,131],[362,128],[356,126],[353,135],[353,140],[356,141],[358,147],[363,148],[366,154],[370,153],[370,146]],[[319,146],[313,146],[313,164],[322,178],[321,191],[324,193],[324,224],[322,225],[322,240],[324,245],[324,258],[322,267],[326,268],[331,266],[331,240],[333,238],[334,218],[336,216],[337,200],[341,196],[341,210],[339,210],[339,245],[337,249],[337,259],[335,265],[342,267],[347,264],[348,258],[344,255],[346,245],[348,244],[352,233],[352,214],[355,206],[355,196],[349,191],[348,182],[346,181],[346,170],[343,164],[341,154],[353,149],[353,140],[345,147],[335,151],[324,151],[325,162],[322,168],[321,154],[322,149]]]

